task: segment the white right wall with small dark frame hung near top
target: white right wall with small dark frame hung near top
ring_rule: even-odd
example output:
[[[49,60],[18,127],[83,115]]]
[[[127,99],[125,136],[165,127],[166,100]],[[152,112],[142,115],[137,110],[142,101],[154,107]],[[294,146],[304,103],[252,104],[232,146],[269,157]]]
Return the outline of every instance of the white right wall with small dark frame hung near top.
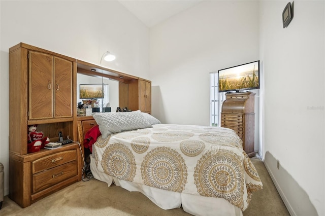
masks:
[[[292,215],[325,215],[325,2],[294,1],[283,29],[287,3],[260,3],[263,155]]]

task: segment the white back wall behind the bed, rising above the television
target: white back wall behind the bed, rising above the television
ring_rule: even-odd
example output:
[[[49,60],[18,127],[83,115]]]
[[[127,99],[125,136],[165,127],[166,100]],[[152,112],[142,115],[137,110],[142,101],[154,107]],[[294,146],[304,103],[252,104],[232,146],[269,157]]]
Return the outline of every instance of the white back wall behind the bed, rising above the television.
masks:
[[[256,1],[204,1],[150,28],[152,114],[209,125],[209,73],[258,60],[258,43]]]

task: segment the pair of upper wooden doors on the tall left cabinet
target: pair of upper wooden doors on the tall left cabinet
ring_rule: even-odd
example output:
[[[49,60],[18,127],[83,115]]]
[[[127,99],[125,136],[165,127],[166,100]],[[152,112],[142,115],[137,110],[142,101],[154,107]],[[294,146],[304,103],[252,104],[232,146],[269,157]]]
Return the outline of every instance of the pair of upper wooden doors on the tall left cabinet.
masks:
[[[73,117],[72,61],[36,51],[28,60],[28,119]]]

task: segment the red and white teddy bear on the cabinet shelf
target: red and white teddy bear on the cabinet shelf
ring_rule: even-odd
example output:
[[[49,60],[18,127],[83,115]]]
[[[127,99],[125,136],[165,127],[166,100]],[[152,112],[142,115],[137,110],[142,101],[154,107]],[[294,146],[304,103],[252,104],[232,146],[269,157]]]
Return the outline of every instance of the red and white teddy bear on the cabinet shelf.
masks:
[[[28,126],[27,152],[38,152],[50,142],[49,137],[43,137],[43,132],[36,131],[37,125]]]

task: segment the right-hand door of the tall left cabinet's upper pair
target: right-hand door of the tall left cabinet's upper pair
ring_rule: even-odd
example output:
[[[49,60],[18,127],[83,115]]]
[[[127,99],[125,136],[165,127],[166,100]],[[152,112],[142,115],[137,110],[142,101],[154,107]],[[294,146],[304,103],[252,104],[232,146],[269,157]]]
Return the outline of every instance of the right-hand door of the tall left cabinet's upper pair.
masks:
[[[54,117],[72,117],[72,62],[54,57]]]

